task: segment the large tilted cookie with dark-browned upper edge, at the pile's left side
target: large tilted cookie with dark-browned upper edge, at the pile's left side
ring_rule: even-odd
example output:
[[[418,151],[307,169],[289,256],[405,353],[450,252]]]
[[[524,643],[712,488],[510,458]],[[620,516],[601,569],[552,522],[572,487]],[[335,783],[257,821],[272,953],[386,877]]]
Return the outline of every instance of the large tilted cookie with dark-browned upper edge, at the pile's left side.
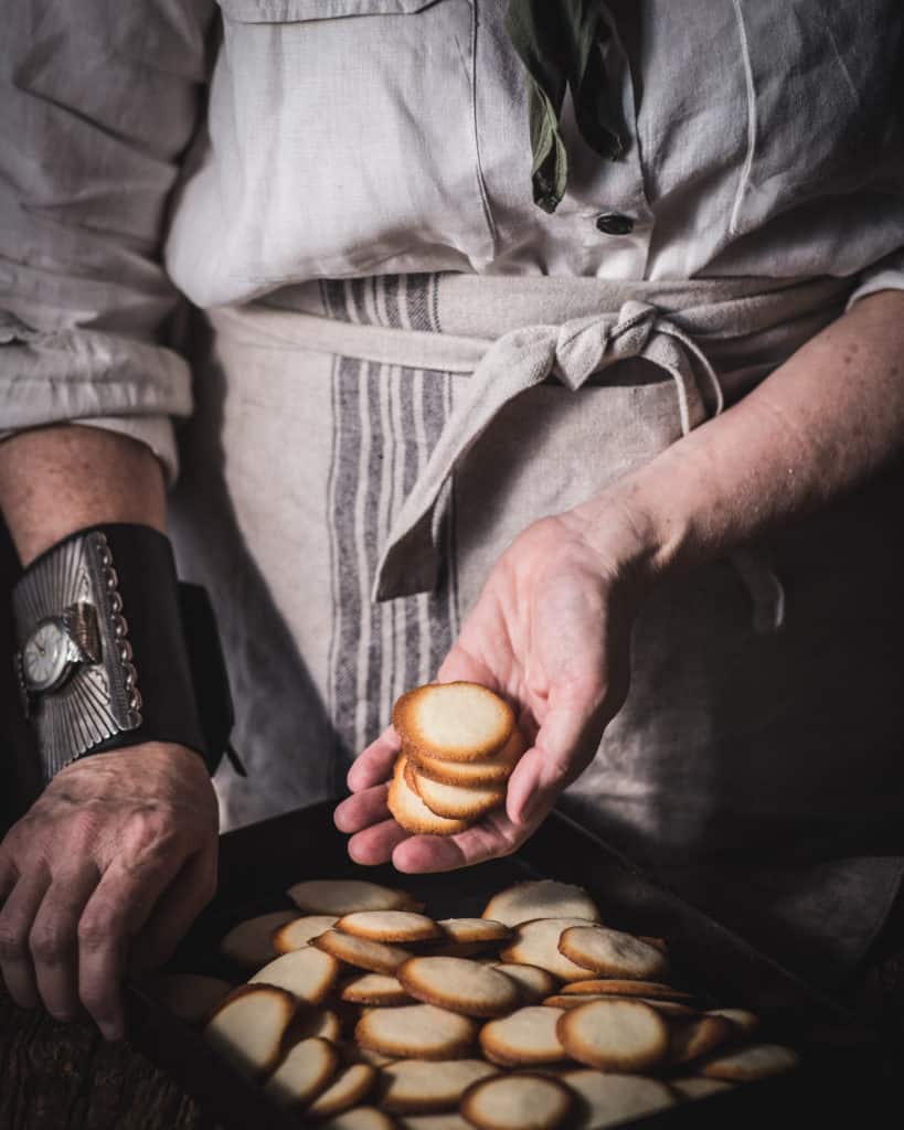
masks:
[[[220,1003],[203,1034],[243,1075],[258,1077],[276,1067],[295,998],[272,985],[240,985]]]

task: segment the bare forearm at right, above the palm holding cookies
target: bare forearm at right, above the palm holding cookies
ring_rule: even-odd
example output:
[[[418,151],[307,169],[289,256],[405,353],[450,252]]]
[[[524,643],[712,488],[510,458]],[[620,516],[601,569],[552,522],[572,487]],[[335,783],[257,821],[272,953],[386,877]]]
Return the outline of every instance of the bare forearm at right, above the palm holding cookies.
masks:
[[[592,544],[626,511],[658,576],[806,516],[902,453],[904,294],[887,290],[575,515]]]

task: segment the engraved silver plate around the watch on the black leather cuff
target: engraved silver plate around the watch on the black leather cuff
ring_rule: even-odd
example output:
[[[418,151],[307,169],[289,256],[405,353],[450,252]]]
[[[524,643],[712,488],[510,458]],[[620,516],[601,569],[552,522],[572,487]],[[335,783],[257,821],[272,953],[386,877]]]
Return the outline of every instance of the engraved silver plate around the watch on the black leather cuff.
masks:
[[[95,746],[141,724],[141,696],[106,536],[92,530],[45,554],[12,592],[16,672],[50,781]],[[21,650],[44,620],[71,641],[71,667],[53,690],[28,690]]]

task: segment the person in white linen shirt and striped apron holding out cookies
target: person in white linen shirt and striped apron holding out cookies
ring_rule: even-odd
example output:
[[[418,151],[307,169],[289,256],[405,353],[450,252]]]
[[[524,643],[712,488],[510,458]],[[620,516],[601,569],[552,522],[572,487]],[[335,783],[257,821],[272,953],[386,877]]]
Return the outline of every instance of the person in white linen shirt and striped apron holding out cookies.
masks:
[[[431,871],[560,802],[808,974],[857,966],[904,855],[902,31],[890,0],[9,12],[0,504],[25,577],[168,531],[235,693],[225,825],[348,772],[353,859]],[[531,742],[450,838],[385,808],[391,703],[434,676]],[[18,1003],[121,1036],[127,970],[210,896],[174,732],[64,764],[3,840]]]

